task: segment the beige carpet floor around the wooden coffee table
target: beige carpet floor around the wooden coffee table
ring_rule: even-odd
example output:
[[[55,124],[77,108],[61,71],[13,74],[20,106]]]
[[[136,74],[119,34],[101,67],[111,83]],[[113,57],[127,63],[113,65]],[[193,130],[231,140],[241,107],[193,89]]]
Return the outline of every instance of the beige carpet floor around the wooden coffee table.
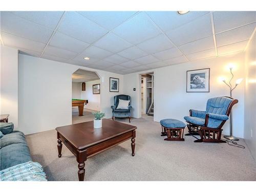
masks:
[[[128,119],[119,121],[129,123]],[[255,161],[248,148],[227,143],[194,143],[164,141],[160,125],[152,117],[132,119],[138,127],[135,156],[131,141],[97,154],[86,161],[86,181],[191,181],[191,180],[256,180]],[[62,157],[57,157],[56,131],[26,136],[32,159],[39,162],[50,181],[77,181],[76,158],[63,145]],[[245,145],[243,140],[240,144]]]

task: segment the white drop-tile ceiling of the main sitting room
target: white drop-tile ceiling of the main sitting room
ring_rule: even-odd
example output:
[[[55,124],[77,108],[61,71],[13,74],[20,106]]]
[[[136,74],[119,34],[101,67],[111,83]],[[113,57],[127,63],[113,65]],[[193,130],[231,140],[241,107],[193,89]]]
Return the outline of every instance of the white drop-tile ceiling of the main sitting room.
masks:
[[[255,11],[2,11],[0,37],[22,54],[127,74],[244,51],[255,26]]]

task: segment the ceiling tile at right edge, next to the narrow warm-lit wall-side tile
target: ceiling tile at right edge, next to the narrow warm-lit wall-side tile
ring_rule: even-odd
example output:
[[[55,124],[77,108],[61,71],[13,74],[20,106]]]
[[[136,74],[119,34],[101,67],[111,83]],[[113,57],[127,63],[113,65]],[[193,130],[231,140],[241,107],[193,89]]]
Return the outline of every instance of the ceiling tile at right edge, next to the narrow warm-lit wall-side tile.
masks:
[[[216,35],[217,47],[247,40],[250,38],[256,23],[229,30]]]

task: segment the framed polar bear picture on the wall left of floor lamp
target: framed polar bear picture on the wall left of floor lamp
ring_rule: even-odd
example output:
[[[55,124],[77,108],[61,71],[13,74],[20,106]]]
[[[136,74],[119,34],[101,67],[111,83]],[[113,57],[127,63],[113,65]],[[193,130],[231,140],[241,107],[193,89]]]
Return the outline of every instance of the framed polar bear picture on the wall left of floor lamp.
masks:
[[[210,92],[210,68],[187,71],[187,92]]]

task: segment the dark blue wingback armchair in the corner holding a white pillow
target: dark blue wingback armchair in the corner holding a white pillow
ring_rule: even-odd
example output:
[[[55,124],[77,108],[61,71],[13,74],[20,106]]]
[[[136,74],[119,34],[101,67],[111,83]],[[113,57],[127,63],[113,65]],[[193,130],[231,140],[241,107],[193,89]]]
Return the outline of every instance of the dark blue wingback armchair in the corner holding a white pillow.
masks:
[[[119,99],[122,100],[130,100],[129,102],[129,106],[128,109],[117,109],[118,103],[119,103]],[[111,106],[112,109],[112,119],[114,121],[114,118],[119,118],[119,117],[128,117],[129,118],[129,122],[131,122],[131,96],[129,95],[116,95],[114,97],[114,105]]]

